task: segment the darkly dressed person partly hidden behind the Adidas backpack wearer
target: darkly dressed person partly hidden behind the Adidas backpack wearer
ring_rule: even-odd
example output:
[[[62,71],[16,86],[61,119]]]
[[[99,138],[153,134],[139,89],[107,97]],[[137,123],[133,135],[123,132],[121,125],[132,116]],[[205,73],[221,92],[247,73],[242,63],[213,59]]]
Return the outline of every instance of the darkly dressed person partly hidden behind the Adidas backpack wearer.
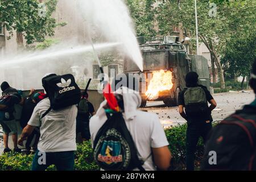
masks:
[[[22,127],[22,129],[24,129],[24,127],[27,126],[27,123],[31,118],[31,115],[33,113],[33,110],[34,110],[36,104],[38,104],[38,102],[40,102],[41,100],[43,100],[46,97],[46,94],[44,94],[42,92],[38,92],[35,94],[34,93],[35,93],[35,89],[31,89],[30,93],[24,100],[24,104],[23,104],[23,108],[22,108],[22,115],[20,117],[20,126]],[[32,94],[34,94],[34,96],[32,96]],[[36,151],[38,148],[38,142],[39,142],[39,138],[40,138],[39,127],[35,127],[35,130],[27,138],[27,142],[26,142],[26,153],[27,154],[30,153],[30,150],[31,150],[30,145],[31,145],[31,142],[34,137],[35,137],[35,140],[34,140],[32,148],[34,151]]]

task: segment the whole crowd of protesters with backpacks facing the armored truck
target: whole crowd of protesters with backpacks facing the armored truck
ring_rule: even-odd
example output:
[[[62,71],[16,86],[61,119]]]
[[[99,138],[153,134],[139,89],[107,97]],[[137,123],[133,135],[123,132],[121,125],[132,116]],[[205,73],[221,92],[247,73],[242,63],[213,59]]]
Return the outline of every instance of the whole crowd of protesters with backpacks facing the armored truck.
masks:
[[[46,75],[42,79],[46,93],[35,93],[31,89],[26,98],[7,82],[1,84],[5,93],[1,98],[6,102],[0,102],[4,152],[11,151],[8,146],[10,134],[15,152],[20,152],[18,144],[23,146],[26,140],[26,152],[29,153],[35,138],[32,144],[35,151],[32,170],[45,170],[52,164],[58,170],[73,170],[76,138],[81,133],[82,140],[92,139],[94,159],[102,169],[168,170],[172,167],[169,143],[159,118],[156,114],[139,110],[141,96],[136,86],[130,85],[129,76],[126,76],[126,85],[120,84],[123,80],[113,80],[114,94],[105,95],[108,99],[101,103],[96,113],[86,91],[81,94],[79,103],[52,109],[51,90],[45,82],[53,77],[56,78],[56,75]],[[199,84],[196,72],[189,72],[185,82],[186,88],[179,93],[178,105],[181,117],[187,121],[187,170],[194,169],[200,137],[206,144],[201,169],[256,170],[256,100],[212,128],[211,112],[217,106],[216,101],[208,89]],[[61,89],[59,93],[62,94],[75,89],[74,86],[67,88],[70,84],[70,79],[61,78],[55,86]],[[250,86],[256,93],[256,62],[253,64]],[[23,105],[19,119],[23,131],[19,140],[14,118],[16,104]],[[127,150],[123,150],[123,147],[130,148],[131,156],[126,155]],[[213,165],[209,162],[211,156],[208,154],[211,151],[217,155],[218,163],[213,161]],[[42,152],[46,155],[43,164],[39,163]],[[238,157],[241,152],[248,157]],[[130,162],[126,163],[126,159]]]

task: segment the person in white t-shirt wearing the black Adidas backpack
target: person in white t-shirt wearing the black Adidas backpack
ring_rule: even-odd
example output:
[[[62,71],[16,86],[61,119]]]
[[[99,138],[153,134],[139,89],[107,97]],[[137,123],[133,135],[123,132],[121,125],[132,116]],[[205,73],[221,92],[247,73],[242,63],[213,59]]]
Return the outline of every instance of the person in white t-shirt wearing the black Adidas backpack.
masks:
[[[75,165],[76,116],[81,91],[72,75],[48,75],[42,79],[47,98],[36,106],[23,129],[19,144],[40,127],[38,150],[32,171],[44,171],[55,164],[57,170],[71,171]],[[42,163],[40,158],[44,158]]]

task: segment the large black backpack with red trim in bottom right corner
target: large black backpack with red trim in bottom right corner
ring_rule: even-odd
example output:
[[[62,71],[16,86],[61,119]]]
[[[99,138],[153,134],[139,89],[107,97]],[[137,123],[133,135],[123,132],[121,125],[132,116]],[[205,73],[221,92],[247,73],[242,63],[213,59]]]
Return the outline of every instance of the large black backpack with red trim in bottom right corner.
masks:
[[[201,169],[256,170],[256,108],[245,106],[214,127],[209,136]],[[216,152],[216,164],[209,163],[211,151]]]

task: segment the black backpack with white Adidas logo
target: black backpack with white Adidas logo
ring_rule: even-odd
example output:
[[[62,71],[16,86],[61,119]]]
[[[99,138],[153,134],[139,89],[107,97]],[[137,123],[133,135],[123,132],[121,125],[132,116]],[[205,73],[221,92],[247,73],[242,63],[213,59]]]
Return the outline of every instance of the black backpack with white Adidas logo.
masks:
[[[80,101],[81,90],[71,74],[48,77],[43,80],[43,86],[47,90],[51,102],[50,108],[43,114],[43,117],[51,109],[63,109],[67,106],[76,105]]]

